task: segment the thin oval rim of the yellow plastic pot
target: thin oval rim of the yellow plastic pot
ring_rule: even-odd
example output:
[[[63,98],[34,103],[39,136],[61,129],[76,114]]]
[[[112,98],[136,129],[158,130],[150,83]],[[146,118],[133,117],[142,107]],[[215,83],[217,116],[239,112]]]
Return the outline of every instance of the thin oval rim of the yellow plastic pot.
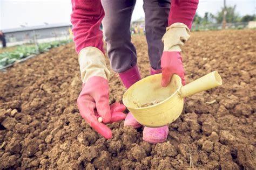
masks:
[[[160,74],[161,74],[161,73],[160,73]],[[131,109],[140,110],[140,109],[148,109],[148,108],[156,107],[157,105],[160,105],[160,104],[162,104],[162,103],[168,101],[170,98],[172,98],[172,96],[176,95],[176,94],[178,93],[179,89],[181,88],[182,84],[181,84],[181,78],[180,78],[180,76],[178,76],[177,74],[173,74],[173,75],[174,75],[174,76],[177,76],[177,77],[179,78],[179,87],[177,88],[176,91],[174,91],[174,93],[173,93],[170,97],[167,97],[165,100],[163,100],[163,101],[161,101],[161,102],[159,102],[159,103],[157,103],[157,104],[149,105],[149,106],[147,106],[147,107],[131,108]],[[149,78],[149,77],[151,77],[151,76],[159,76],[159,74],[154,74],[154,75],[147,76],[147,77],[145,77],[144,79],[141,79],[141,80],[139,80],[139,81],[145,80],[145,79],[147,79],[147,78]],[[139,81],[137,81],[136,83],[138,83]],[[132,84],[132,86],[135,86],[136,83]],[[132,86],[131,86],[131,87],[132,87]],[[129,89],[127,89],[127,90],[125,91],[125,93],[124,93],[123,96],[125,96],[125,94],[127,93],[128,90],[129,90]],[[123,100],[122,100],[122,101],[123,101],[123,103],[124,103],[124,105],[125,105],[124,97],[123,97]],[[127,107],[127,108],[128,108],[128,107]]]

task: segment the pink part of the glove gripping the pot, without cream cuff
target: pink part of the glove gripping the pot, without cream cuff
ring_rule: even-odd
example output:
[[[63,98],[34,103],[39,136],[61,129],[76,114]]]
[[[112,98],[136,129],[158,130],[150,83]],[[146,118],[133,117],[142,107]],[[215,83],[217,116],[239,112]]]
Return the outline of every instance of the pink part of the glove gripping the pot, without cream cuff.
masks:
[[[180,52],[163,52],[161,56],[161,69],[162,69],[162,81],[161,85],[166,87],[173,74],[177,74],[181,77],[183,86],[185,85],[184,68]]]

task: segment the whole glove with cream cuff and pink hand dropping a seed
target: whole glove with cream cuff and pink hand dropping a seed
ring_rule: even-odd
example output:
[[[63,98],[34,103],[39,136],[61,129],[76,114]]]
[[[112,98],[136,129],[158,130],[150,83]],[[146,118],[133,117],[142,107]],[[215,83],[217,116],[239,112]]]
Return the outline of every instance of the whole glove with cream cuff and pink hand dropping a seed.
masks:
[[[96,47],[83,48],[78,60],[83,81],[83,89],[77,99],[80,115],[99,134],[109,139],[112,132],[105,124],[125,119],[125,106],[119,103],[109,106],[107,80],[110,72],[102,51]],[[98,121],[99,117],[103,123]]]

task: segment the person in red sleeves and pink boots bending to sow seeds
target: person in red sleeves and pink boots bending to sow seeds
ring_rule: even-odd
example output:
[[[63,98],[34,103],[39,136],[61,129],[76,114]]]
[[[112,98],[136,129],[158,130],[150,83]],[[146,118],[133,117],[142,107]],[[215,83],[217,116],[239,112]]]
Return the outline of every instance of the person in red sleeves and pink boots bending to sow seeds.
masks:
[[[140,80],[136,49],[131,42],[130,23],[136,0],[72,0],[71,22],[76,44],[82,91],[77,99],[80,115],[105,138],[112,132],[105,123],[125,119],[125,126],[140,128],[129,112],[126,118],[122,105],[109,106],[110,72],[106,67],[103,33],[112,69],[117,72],[126,88]],[[178,74],[183,85],[184,68],[181,49],[190,38],[192,20],[198,0],[157,1],[144,0],[145,32],[149,47],[150,74],[162,73],[161,84],[166,87],[173,74]],[[103,24],[103,33],[100,31]],[[116,108],[115,108],[116,107]],[[103,118],[103,123],[97,117]],[[143,139],[161,143],[167,138],[168,126],[143,130]]]

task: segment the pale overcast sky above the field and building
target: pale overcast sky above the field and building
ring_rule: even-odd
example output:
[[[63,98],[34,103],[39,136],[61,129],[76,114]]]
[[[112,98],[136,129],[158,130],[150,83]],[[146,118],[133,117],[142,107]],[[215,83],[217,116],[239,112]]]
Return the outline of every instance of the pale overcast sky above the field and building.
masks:
[[[112,0],[111,0],[112,1]],[[226,0],[227,6],[237,5],[240,16],[256,13],[256,0]],[[137,0],[132,20],[144,17],[143,0]],[[223,0],[199,0],[200,16],[205,12],[217,13]],[[0,30],[21,27],[21,25],[35,26],[44,23],[70,22],[71,0],[0,0]]]

